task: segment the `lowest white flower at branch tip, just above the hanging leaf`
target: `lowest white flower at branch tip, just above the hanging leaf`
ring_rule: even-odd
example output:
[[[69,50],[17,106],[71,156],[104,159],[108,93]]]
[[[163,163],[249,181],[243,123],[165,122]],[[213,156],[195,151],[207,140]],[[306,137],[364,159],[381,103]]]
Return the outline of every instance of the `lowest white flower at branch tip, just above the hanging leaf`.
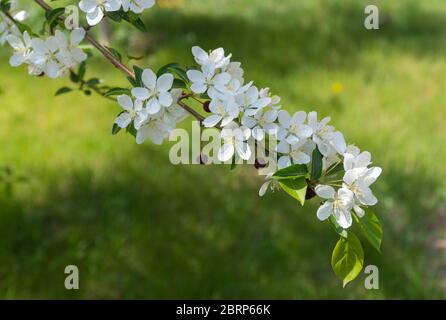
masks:
[[[352,225],[353,192],[347,188],[336,192],[333,187],[325,185],[318,185],[315,191],[319,197],[326,199],[317,210],[318,219],[324,221],[333,215],[342,228],[349,228]]]

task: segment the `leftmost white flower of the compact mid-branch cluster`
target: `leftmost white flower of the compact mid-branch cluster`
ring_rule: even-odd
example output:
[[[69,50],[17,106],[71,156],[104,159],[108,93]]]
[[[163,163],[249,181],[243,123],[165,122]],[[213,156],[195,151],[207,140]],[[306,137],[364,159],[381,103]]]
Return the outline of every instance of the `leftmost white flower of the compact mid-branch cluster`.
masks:
[[[118,96],[118,103],[124,109],[115,120],[115,123],[120,128],[127,128],[133,120],[135,129],[139,129],[144,121],[148,118],[147,110],[143,107],[143,101],[136,100],[133,102],[132,98],[123,94]]]

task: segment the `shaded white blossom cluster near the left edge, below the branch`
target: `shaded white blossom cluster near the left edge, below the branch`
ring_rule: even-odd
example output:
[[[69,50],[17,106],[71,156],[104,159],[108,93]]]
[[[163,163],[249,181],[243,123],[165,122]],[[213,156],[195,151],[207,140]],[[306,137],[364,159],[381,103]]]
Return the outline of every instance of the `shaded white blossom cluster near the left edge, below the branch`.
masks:
[[[13,67],[28,65],[31,75],[46,74],[49,78],[63,77],[70,69],[76,68],[87,59],[87,54],[79,48],[85,37],[85,30],[74,29],[69,36],[56,30],[54,35],[45,39],[23,34],[10,34],[7,41],[14,49],[9,60]]]

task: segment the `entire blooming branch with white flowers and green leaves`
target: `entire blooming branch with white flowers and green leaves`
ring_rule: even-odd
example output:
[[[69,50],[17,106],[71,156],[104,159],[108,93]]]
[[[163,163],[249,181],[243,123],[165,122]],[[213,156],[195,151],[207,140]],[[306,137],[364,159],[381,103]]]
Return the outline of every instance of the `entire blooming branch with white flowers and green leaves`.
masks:
[[[150,68],[127,67],[116,50],[105,47],[91,35],[90,28],[104,17],[117,22],[125,20],[144,29],[139,15],[154,5],[153,0],[82,0],[79,7],[86,13],[88,27],[70,30],[68,35],[61,23],[65,20],[63,10],[53,9],[44,0],[35,3],[47,13],[50,32],[46,38],[17,23],[10,14],[11,7],[0,2],[4,17],[9,20],[3,22],[0,15],[0,26],[5,23],[0,35],[14,49],[12,66],[26,64],[31,75],[45,74],[50,78],[70,73],[71,80],[79,83],[86,94],[93,90],[116,100],[122,111],[114,121],[113,134],[125,129],[137,143],[146,139],[163,143],[190,114],[201,126],[220,130],[223,143],[216,153],[221,162],[234,164],[238,159],[248,161],[254,157],[260,168],[261,161],[250,142],[254,142],[255,149],[262,146],[265,154],[274,155],[278,170],[269,172],[259,195],[263,196],[268,189],[282,189],[301,205],[312,198],[320,200],[315,217],[328,221],[340,236],[332,254],[332,267],[344,285],[358,276],[364,263],[361,242],[351,230],[354,223],[380,251],[382,229],[371,210],[378,199],[371,185],[382,170],[372,166],[369,152],[347,144],[344,135],[329,125],[329,117],[319,119],[315,111],[289,114],[280,97],[269,88],[258,88],[253,81],[245,81],[241,63],[232,61],[232,54],[227,55],[223,48],[205,51],[194,46],[195,68],[185,70],[170,63],[155,72]],[[88,56],[79,47],[84,39],[124,73],[131,88],[99,86],[99,79],[84,79]],[[61,88],[58,93],[70,90]],[[190,100],[199,102],[207,116],[192,108]]]

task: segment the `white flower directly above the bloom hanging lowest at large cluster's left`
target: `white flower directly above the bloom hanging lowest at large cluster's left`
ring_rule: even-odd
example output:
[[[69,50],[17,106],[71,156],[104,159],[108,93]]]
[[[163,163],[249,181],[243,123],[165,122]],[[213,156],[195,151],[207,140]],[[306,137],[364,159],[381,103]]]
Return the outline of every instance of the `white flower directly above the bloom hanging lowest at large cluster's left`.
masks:
[[[209,104],[209,110],[212,115],[203,120],[203,125],[206,128],[215,127],[220,122],[224,127],[237,118],[240,113],[235,101],[227,95],[213,97]]]

